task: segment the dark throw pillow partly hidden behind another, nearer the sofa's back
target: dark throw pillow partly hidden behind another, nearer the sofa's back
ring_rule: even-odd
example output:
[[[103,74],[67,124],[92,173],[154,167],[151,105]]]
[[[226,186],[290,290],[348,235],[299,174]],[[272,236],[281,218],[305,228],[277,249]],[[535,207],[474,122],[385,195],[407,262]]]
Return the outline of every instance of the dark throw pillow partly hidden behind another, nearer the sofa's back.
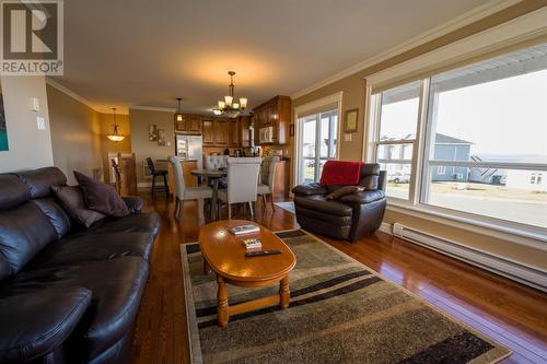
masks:
[[[101,212],[88,209],[78,186],[51,186],[51,190],[69,215],[85,227],[90,227],[106,218]]]

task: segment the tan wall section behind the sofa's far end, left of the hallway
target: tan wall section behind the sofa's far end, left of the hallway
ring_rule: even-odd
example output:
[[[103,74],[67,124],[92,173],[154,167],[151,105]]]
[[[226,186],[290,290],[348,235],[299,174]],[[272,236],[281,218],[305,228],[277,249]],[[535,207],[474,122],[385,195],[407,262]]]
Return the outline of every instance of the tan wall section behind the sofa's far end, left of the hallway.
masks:
[[[73,171],[101,178],[100,114],[66,93],[47,85],[54,165],[75,184]]]

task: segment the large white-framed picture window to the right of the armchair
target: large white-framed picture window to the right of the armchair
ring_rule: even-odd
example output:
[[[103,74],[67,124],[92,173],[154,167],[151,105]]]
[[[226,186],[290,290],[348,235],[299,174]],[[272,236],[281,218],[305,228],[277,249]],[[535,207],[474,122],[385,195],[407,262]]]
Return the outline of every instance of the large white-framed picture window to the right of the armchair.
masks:
[[[375,157],[387,171],[391,198],[547,228],[547,44],[432,74],[373,101]]]

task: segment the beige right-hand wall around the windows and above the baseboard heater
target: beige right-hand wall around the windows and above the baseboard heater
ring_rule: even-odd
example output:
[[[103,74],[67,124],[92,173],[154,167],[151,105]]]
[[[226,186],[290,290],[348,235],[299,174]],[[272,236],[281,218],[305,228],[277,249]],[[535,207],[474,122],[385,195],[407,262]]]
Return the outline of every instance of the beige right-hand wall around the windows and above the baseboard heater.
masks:
[[[346,110],[359,107],[359,130],[356,133],[352,133],[351,142],[345,142],[342,133],[341,137],[342,140],[340,142],[340,158],[348,161],[360,161],[363,148],[363,127],[364,127],[363,110],[365,106],[364,78],[366,75],[387,69],[405,60],[411,59],[430,50],[454,43],[469,35],[485,31],[489,27],[502,24],[520,15],[524,15],[531,11],[540,9],[546,5],[547,1],[545,0],[540,1],[525,0],[519,2],[510,8],[507,8],[498,13],[489,15],[480,21],[466,25],[457,31],[451,32],[437,39],[430,40],[423,45],[420,45],[416,48],[412,48],[400,55],[397,55],[391,59],[387,59],[381,63],[369,67],[368,69],[364,69],[337,82],[328,84],[306,95],[298,97],[292,102],[293,110],[294,107],[304,105],[309,102],[342,91],[344,92],[342,118]],[[344,126],[344,124],[340,125]],[[291,150],[291,155],[294,155],[293,138],[291,138],[290,150]],[[467,230],[452,227],[446,224],[433,223],[428,219],[420,219],[412,215],[411,213],[399,213],[394,211],[387,211],[384,221],[387,223],[400,222],[409,226],[414,226],[416,228],[435,234],[441,237],[454,239],[456,242],[459,242],[461,244],[468,245],[470,247],[484,249],[486,251],[490,251],[492,254],[509,259],[513,259],[543,270],[547,270],[547,251],[542,249],[517,245],[510,240],[504,240],[488,235],[477,234],[474,232],[469,232]]]

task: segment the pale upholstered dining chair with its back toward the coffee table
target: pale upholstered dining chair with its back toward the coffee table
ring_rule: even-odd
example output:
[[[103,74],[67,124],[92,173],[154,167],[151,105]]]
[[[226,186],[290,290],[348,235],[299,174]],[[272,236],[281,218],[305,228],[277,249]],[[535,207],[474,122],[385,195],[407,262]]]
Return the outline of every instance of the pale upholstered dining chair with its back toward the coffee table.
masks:
[[[251,216],[254,216],[253,202],[258,192],[258,174],[261,158],[229,157],[228,188],[219,190],[219,200],[228,206],[228,219],[232,219],[233,203],[248,203]]]

